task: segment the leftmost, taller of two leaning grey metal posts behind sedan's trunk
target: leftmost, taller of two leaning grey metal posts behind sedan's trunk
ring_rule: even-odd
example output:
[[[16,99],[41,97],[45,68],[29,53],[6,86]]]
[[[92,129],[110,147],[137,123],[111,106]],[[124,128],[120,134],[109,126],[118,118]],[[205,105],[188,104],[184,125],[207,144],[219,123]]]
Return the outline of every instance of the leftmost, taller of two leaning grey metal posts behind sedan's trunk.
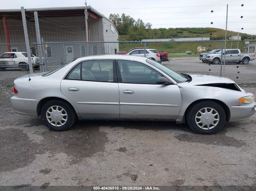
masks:
[[[33,74],[33,66],[32,66],[31,53],[30,53],[30,47],[29,47],[29,41],[28,41],[28,30],[27,30],[26,15],[25,15],[24,7],[21,7],[21,14],[22,14],[22,23],[23,23],[26,49],[28,54],[29,73]]]

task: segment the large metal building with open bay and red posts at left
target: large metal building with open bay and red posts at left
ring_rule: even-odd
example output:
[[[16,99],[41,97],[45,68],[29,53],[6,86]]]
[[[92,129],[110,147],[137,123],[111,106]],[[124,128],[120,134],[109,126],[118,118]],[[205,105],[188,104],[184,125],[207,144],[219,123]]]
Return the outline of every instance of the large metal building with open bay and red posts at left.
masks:
[[[66,53],[73,58],[95,54],[115,54],[118,43],[90,43],[118,41],[118,31],[113,22],[91,6],[87,6],[88,28],[86,29],[85,7],[57,7],[25,9],[28,37],[36,43],[34,11],[38,12],[40,35],[44,42],[74,42],[74,44],[49,43],[46,54],[49,59]],[[88,30],[88,42],[86,38]],[[83,44],[75,42],[84,42]],[[25,43],[20,9],[0,10],[0,43]],[[31,52],[37,54],[37,47],[31,45]],[[26,51],[25,46],[7,45],[0,54],[10,51]]]

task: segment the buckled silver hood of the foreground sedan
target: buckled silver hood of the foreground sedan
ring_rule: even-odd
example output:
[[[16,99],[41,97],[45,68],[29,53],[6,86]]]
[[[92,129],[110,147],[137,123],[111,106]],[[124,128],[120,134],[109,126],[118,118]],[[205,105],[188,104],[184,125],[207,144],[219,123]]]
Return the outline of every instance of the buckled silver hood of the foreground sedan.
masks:
[[[219,83],[227,83],[227,84],[235,84],[235,82],[231,79],[212,76],[212,75],[200,75],[200,74],[188,74],[192,77],[192,81],[189,82],[190,85],[201,85],[201,84],[219,84]]]

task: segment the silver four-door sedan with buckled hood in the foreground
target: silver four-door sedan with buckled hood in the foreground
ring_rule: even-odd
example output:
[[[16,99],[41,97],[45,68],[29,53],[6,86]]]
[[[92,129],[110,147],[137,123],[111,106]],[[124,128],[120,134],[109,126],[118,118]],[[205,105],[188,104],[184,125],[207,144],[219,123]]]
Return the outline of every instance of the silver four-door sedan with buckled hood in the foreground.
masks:
[[[251,93],[234,81],[180,74],[139,56],[102,55],[76,59],[52,71],[14,81],[12,107],[40,116],[49,129],[69,129],[75,120],[159,120],[188,123],[213,134],[225,122],[249,119]]]

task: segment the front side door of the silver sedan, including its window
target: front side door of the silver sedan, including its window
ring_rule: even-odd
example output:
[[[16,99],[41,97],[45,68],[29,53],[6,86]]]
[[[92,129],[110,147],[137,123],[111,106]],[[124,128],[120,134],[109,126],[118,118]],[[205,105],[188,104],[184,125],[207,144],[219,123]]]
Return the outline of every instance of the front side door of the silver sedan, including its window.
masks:
[[[176,84],[157,84],[161,73],[148,65],[116,60],[120,118],[176,119],[181,93]]]

